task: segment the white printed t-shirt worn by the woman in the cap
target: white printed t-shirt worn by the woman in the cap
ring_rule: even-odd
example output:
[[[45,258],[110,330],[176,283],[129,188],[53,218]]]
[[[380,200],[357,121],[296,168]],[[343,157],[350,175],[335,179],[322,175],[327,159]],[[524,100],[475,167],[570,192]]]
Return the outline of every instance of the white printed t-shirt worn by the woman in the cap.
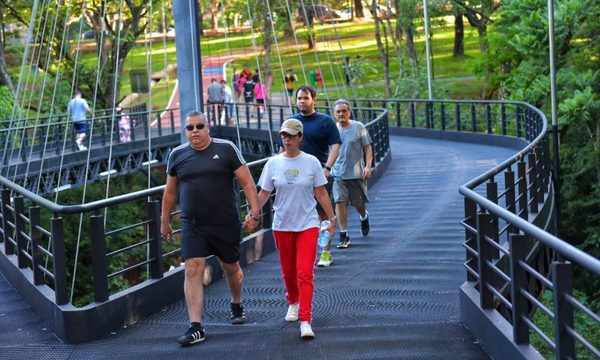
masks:
[[[275,193],[273,230],[303,231],[319,227],[315,187],[327,184],[321,163],[304,152],[293,158],[276,155],[265,164],[258,186]]]

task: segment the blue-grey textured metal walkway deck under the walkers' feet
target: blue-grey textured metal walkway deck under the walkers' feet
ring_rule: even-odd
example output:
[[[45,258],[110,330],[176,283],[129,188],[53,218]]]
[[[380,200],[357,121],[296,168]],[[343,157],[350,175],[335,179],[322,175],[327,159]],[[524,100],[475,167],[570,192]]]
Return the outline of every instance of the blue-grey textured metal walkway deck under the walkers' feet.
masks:
[[[206,341],[188,348],[176,343],[187,327],[183,300],[102,340],[69,345],[0,276],[0,358],[487,359],[459,322],[466,273],[457,189],[514,151],[397,136],[391,147],[390,168],[369,190],[371,234],[360,236],[351,210],[351,246],[334,249],[333,266],[316,270],[314,340],[301,340],[298,324],[283,319],[285,293],[270,254],[244,270],[248,323],[229,324],[220,281],[205,293]]]

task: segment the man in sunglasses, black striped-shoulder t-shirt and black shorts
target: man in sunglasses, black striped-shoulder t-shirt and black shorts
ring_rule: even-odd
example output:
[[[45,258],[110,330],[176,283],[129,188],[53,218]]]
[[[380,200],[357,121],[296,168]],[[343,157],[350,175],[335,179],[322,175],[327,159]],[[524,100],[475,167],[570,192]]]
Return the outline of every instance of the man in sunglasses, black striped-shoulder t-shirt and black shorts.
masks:
[[[181,209],[181,257],[185,261],[184,294],[190,326],[179,338],[181,345],[204,341],[202,309],[206,258],[218,257],[231,293],[232,324],[246,321],[242,306],[244,274],[240,267],[241,222],[238,180],[250,204],[244,227],[253,230],[260,208],[256,185],[239,149],[230,141],[211,138],[209,122],[198,111],[185,119],[188,142],[174,148],[167,160],[167,183],[162,200],[161,235],[172,241],[171,211]]]

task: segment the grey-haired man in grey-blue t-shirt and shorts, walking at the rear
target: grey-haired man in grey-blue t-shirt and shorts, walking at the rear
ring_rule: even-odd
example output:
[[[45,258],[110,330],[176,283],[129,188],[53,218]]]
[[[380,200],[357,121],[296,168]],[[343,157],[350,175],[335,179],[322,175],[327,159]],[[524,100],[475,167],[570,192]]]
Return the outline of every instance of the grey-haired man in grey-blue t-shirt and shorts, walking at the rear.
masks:
[[[348,235],[348,211],[350,204],[360,215],[360,233],[369,234],[369,213],[367,212],[367,180],[371,176],[373,149],[371,137],[365,126],[358,121],[350,120],[352,110],[347,100],[340,99],[334,104],[334,113],[338,121],[338,130],[342,145],[339,155],[331,169],[333,176],[333,199],[335,213],[340,224],[340,242],[338,248],[347,248],[350,244]]]

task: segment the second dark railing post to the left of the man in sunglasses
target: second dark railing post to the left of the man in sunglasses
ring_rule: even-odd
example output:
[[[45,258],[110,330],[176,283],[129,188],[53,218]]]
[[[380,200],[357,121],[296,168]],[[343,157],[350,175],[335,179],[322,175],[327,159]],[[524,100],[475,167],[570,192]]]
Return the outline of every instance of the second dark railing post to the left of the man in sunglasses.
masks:
[[[108,264],[106,258],[106,244],[104,243],[104,216],[90,216],[90,234],[92,243],[92,283],[94,300],[104,302],[108,300]]]

